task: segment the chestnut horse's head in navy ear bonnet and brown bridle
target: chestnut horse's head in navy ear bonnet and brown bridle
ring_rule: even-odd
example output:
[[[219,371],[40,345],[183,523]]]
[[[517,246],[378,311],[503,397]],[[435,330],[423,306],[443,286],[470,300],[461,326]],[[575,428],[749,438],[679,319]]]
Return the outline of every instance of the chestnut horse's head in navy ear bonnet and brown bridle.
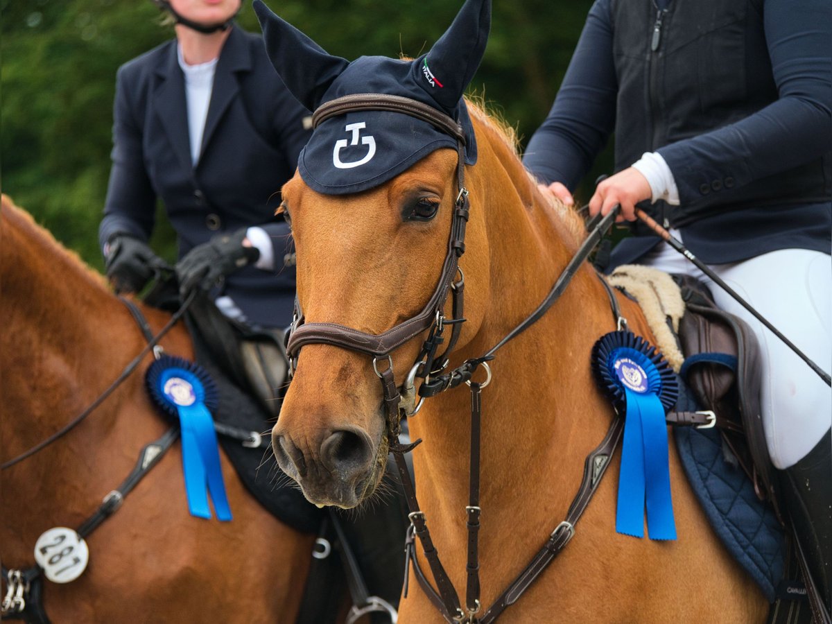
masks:
[[[280,468],[313,503],[354,507],[379,483],[398,419],[379,377],[389,369],[400,386],[437,318],[453,319],[448,292],[465,244],[480,260],[466,283],[488,291],[485,218],[468,217],[461,185],[471,173],[468,186],[483,186],[471,169],[477,113],[463,92],[483,56],[490,8],[465,2],[414,60],[347,62],[255,2],[275,69],[315,111],[299,171],[283,189],[300,326],[290,344],[295,377],[273,434]],[[453,249],[459,228],[467,243]],[[477,333],[482,307],[466,301],[458,349]]]

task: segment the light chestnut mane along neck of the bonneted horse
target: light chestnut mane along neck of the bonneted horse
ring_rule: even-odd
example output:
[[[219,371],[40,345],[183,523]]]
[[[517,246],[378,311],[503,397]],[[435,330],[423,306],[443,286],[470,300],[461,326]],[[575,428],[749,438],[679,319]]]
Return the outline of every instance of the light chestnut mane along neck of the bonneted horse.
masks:
[[[493,131],[498,137],[498,140],[518,161],[518,165],[522,166],[522,162],[520,161],[520,139],[516,129],[506,121],[505,117],[499,111],[495,111],[493,106],[488,106],[484,92],[465,96],[465,102],[468,105],[468,112],[471,116],[476,117],[478,121],[483,123],[483,126]],[[551,209],[554,218],[566,226],[567,233],[572,235],[573,242],[580,244],[585,235],[585,229],[583,220],[578,215],[577,210],[552,196],[543,195],[537,189],[537,179],[525,168],[523,168],[523,171],[526,173],[529,186],[532,187],[532,196],[537,199],[541,206]]]

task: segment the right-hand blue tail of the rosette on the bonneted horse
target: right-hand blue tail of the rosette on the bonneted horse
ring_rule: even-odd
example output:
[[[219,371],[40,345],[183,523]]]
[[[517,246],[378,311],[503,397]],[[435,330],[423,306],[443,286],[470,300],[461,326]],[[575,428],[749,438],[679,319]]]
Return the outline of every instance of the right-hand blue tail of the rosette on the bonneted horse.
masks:
[[[665,410],[655,394],[647,394],[640,399],[638,409],[644,437],[647,531],[651,539],[676,539]]]

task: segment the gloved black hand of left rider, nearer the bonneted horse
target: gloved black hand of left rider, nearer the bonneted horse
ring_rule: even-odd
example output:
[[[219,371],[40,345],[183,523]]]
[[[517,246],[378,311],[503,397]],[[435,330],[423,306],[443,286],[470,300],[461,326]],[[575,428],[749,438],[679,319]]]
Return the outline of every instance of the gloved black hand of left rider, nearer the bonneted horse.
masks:
[[[256,247],[243,245],[246,230],[243,228],[233,234],[215,235],[207,243],[194,247],[176,263],[180,295],[185,297],[195,288],[210,290],[220,277],[256,262],[260,251]]]

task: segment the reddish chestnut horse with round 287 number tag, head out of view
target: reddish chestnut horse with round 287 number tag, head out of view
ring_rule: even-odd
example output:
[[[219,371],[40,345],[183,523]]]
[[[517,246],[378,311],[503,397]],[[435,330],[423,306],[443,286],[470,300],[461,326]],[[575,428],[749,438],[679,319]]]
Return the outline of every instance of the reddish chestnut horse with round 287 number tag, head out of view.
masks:
[[[146,346],[101,275],[2,198],[2,462],[62,428]],[[137,304],[154,331],[170,318]],[[191,359],[183,324],[161,340]],[[170,427],[143,364],[77,428],[2,473],[2,563],[32,567],[37,537],[77,527]],[[267,513],[222,456],[231,522],[188,513],[176,443],[89,537],[74,582],[44,581],[53,622],[295,622],[314,535]],[[5,579],[4,591],[5,591]]]

